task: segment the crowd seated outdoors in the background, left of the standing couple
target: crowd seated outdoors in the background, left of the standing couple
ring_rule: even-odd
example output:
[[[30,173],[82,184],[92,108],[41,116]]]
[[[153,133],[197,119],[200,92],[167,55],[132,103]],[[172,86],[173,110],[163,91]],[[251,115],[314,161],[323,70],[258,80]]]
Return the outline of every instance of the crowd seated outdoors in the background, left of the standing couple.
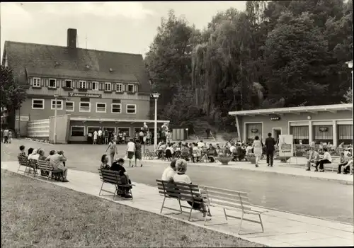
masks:
[[[215,162],[219,154],[227,154],[233,157],[232,161],[247,161],[247,154],[253,152],[252,143],[226,142],[220,146],[219,143],[212,145],[202,140],[184,144],[182,142],[159,142],[156,155],[159,159],[181,158],[186,161],[202,162],[203,158],[209,162]]]

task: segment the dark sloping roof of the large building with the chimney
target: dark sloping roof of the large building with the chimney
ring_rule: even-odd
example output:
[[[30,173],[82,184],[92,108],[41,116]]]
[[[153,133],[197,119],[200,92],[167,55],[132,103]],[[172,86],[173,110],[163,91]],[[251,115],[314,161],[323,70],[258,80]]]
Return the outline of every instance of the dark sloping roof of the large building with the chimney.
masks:
[[[42,45],[7,41],[4,55],[8,67],[21,84],[29,75],[75,77],[86,80],[136,81],[139,92],[149,93],[151,86],[142,55],[106,52],[57,45]],[[89,68],[87,67],[89,66]],[[110,68],[113,72],[110,72]]]

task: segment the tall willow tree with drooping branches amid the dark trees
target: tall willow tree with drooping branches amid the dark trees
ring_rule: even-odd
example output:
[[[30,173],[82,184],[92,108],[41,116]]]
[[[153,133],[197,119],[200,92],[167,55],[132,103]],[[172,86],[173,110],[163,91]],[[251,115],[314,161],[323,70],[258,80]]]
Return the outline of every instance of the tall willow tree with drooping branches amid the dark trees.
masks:
[[[197,106],[224,124],[228,112],[254,106],[263,98],[252,59],[251,23],[246,13],[229,9],[213,18],[204,43],[192,53],[192,85]],[[257,100],[258,102],[258,100]]]

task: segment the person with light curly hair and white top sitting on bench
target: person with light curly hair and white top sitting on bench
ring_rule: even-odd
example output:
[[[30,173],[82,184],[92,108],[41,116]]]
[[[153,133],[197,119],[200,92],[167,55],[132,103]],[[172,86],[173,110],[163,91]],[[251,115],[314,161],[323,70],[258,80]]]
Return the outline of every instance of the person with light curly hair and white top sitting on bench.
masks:
[[[176,161],[176,171],[177,174],[173,176],[173,181],[175,183],[183,183],[183,184],[192,184],[188,175],[185,174],[187,171],[187,162],[184,159],[178,159]],[[194,197],[193,197],[194,198]],[[196,201],[200,201],[200,196],[195,196]],[[191,201],[187,201],[187,203],[195,210],[199,210],[205,216],[206,214],[210,216],[210,213],[207,213],[204,203],[193,203]]]

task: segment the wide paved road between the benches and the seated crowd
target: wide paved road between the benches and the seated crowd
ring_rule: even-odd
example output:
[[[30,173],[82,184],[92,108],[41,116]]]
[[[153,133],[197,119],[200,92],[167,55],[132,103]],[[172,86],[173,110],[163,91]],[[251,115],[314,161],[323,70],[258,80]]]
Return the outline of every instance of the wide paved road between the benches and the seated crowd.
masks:
[[[101,163],[101,154],[105,152],[104,145],[53,146],[13,140],[13,144],[1,146],[1,161],[16,160],[19,145],[26,145],[26,149],[42,147],[46,152],[54,148],[64,150],[69,169],[95,173]],[[123,155],[125,147],[120,146],[119,150]],[[144,162],[143,167],[128,168],[127,171],[134,181],[154,186],[167,166],[167,162]],[[249,192],[251,202],[256,205],[353,224],[353,185],[220,167],[189,166],[187,174],[195,184]]]

